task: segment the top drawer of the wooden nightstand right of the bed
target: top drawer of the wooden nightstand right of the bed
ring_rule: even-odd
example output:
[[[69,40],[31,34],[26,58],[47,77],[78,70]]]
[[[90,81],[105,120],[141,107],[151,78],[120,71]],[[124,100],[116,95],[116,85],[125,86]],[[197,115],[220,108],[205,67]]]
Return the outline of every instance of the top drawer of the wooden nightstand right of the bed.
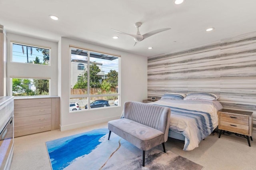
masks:
[[[220,113],[220,121],[249,125],[249,117]]]

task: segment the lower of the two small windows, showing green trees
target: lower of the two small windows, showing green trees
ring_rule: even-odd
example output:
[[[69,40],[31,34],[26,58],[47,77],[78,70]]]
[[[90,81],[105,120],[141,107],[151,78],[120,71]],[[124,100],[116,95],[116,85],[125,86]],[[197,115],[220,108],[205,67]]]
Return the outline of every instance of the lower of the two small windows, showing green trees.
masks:
[[[49,79],[12,78],[13,96],[49,95]]]

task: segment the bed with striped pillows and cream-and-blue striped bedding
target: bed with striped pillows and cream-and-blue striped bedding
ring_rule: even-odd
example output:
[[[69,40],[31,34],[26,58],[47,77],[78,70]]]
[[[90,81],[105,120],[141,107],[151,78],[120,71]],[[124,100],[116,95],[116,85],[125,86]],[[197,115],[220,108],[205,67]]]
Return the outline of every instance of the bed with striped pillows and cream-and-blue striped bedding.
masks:
[[[169,137],[184,140],[183,150],[193,150],[218,126],[222,105],[212,93],[165,93],[149,104],[170,107]],[[123,118],[123,113],[121,118]]]

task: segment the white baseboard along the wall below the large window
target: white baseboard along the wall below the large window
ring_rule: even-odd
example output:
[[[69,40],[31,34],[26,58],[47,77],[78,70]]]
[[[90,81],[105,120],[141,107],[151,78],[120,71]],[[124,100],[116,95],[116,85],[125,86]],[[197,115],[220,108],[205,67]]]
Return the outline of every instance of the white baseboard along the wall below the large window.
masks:
[[[88,127],[88,126],[91,126],[91,125],[97,125],[97,124],[112,121],[112,120],[115,120],[115,119],[120,119],[120,116],[108,117],[108,118],[104,118],[104,119],[98,119],[98,120],[88,121],[88,122],[81,122],[81,123],[76,123],[76,124],[71,124],[71,125],[64,125],[64,126],[60,125],[60,131],[72,130],[72,129],[82,128],[82,127]]]

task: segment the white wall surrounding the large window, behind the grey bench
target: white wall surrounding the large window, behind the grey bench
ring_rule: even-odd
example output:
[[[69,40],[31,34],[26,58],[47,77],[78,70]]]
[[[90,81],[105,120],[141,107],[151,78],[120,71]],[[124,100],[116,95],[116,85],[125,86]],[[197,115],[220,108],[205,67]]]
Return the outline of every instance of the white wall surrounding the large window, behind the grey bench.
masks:
[[[69,113],[70,50],[69,45],[121,55],[120,99],[121,107],[109,107],[90,111]],[[147,57],[102,47],[90,43],[61,38],[58,45],[58,95],[60,96],[60,129],[89,126],[120,118],[125,101],[140,101],[147,98]]]

